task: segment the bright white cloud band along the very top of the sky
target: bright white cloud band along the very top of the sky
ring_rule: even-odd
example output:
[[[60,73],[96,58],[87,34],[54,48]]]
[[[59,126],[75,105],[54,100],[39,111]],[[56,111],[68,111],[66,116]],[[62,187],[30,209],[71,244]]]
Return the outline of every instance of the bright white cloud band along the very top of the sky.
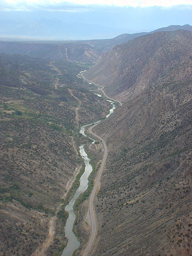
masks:
[[[89,6],[118,6],[118,7],[170,7],[176,5],[192,6],[192,0],[1,0],[1,11],[82,11]]]

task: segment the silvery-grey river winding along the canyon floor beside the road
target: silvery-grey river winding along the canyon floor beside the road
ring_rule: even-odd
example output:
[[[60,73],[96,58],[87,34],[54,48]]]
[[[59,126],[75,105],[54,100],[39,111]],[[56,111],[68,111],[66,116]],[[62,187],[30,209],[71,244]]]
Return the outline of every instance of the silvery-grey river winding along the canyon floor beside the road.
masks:
[[[98,97],[100,97],[100,95],[97,95]],[[112,109],[109,110],[109,114],[106,115],[106,118],[108,118],[114,111],[115,107],[115,103],[112,100],[107,100],[108,102],[111,103],[111,105],[113,106]],[[81,126],[80,129],[80,133],[84,136],[87,137],[87,135],[84,133],[85,132],[85,128],[88,126],[91,126],[92,124],[101,122],[101,120],[96,121],[96,122],[92,122],[92,123],[88,123],[88,124],[84,124],[83,126]],[[92,143],[95,143],[95,140],[91,137],[89,137],[90,139],[93,140]],[[92,166],[90,165],[89,161],[90,158],[87,157],[87,154],[84,150],[84,145],[82,144],[79,148],[79,152],[81,154],[81,157],[84,159],[84,163],[85,163],[85,169],[84,169],[84,174],[81,176],[80,178],[80,185],[78,187],[78,189],[76,190],[74,196],[72,197],[72,200],[69,202],[69,204],[65,207],[65,210],[69,213],[69,217],[66,221],[66,225],[65,225],[65,237],[68,238],[68,243],[67,246],[64,248],[62,256],[72,256],[73,252],[79,248],[80,243],[78,241],[78,239],[76,238],[75,234],[72,231],[73,228],[73,224],[76,218],[76,215],[73,212],[73,205],[75,203],[75,200],[78,198],[78,196],[82,193],[84,193],[84,191],[88,188],[88,177],[90,175],[90,173],[93,171]]]

